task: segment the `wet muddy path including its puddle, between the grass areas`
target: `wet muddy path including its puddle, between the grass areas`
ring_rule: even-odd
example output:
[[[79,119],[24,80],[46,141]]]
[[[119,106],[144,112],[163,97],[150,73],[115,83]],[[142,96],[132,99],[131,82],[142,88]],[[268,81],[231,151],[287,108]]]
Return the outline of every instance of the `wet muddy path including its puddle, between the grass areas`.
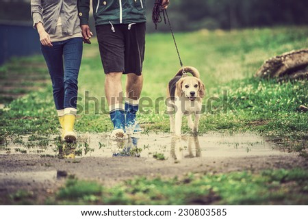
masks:
[[[109,140],[107,133],[85,133],[77,144],[65,145],[57,136],[26,136],[1,148],[0,195],[21,189],[48,195],[69,175],[114,185],[135,176],[307,168],[303,157],[283,151],[280,144],[280,138],[253,133],[208,133],[181,139],[150,133],[123,141]]]

